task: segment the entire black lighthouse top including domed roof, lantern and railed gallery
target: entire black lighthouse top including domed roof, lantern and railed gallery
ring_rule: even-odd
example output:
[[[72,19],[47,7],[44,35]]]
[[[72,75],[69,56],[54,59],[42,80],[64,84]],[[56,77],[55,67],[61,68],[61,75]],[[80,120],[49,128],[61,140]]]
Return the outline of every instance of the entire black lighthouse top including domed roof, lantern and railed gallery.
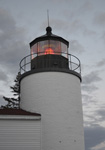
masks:
[[[52,28],[46,28],[46,34],[30,43],[30,54],[20,61],[20,73],[23,76],[40,71],[63,71],[76,74],[81,79],[79,59],[69,54],[69,42],[52,34]]]

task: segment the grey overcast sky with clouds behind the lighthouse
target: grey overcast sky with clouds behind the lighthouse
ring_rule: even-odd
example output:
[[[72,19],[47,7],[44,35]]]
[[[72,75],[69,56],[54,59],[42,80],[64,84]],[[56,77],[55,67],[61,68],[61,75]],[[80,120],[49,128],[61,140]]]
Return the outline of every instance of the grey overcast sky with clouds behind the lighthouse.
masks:
[[[105,150],[105,0],[0,0],[0,104],[29,43],[45,34],[47,9],[53,33],[81,60],[86,150]]]

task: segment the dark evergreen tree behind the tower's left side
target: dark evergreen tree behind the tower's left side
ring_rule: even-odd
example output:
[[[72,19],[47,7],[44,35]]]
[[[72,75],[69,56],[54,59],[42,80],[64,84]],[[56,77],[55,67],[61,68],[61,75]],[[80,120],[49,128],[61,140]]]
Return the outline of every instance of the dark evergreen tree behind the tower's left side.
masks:
[[[13,109],[19,109],[20,107],[20,86],[19,86],[19,78],[20,78],[20,72],[16,76],[16,79],[14,80],[15,84],[14,86],[11,86],[12,92],[14,93],[14,97],[5,97],[3,96],[3,99],[7,102],[5,106],[1,106],[1,108],[13,108]]]

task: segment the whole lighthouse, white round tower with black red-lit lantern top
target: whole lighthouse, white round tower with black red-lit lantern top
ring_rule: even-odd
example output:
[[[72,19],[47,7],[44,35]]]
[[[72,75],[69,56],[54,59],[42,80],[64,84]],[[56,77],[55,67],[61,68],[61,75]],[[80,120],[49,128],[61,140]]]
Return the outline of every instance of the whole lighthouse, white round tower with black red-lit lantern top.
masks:
[[[20,108],[41,114],[41,150],[84,150],[81,66],[68,47],[48,26],[20,62]]]

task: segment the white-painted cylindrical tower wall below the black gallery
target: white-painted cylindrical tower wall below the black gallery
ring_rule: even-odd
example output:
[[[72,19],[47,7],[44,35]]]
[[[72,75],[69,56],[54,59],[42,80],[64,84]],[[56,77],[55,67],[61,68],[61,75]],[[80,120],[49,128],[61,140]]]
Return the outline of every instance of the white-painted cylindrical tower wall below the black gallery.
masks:
[[[21,108],[42,115],[43,150],[84,150],[78,77],[63,72],[26,76],[21,81]]]

